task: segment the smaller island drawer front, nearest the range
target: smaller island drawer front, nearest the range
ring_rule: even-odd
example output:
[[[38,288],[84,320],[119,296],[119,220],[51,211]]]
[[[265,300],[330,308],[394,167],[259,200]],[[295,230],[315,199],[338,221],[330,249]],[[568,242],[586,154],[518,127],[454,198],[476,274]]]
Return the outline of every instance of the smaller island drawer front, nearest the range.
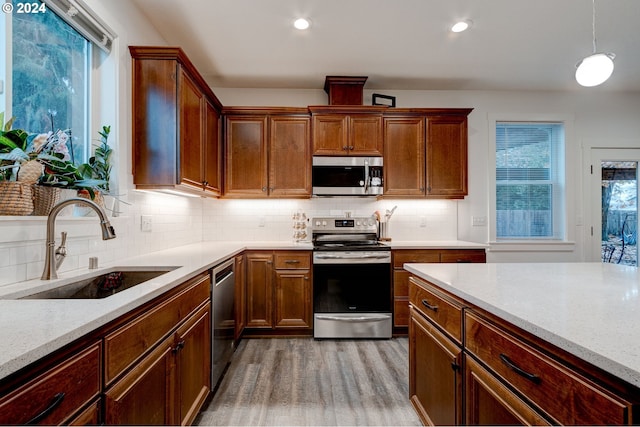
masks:
[[[435,290],[428,283],[409,279],[409,302],[423,315],[462,343],[462,304]]]

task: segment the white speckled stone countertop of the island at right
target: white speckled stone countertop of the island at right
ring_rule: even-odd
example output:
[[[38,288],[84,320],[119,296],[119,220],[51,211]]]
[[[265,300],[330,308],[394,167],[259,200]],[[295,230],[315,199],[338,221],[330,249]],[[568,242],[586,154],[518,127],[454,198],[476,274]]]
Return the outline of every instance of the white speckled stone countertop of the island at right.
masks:
[[[640,387],[640,272],[603,263],[405,264],[405,269]]]

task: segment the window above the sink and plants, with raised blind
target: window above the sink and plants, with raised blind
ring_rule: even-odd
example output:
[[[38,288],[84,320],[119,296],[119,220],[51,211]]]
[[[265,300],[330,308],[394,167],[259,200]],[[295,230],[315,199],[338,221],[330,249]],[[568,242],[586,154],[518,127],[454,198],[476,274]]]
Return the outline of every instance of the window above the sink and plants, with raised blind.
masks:
[[[108,54],[114,36],[75,0],[10,3],[14,13],[0,16],[0,32],[7,36],[0,42],[6,64],[0,69],[0,111],[6,119],[15,117],[14,128],[29,133],[67,130],[73,161],[86,162],[102,125],[92,118],[91,93],[97,88],[91,75],[96,59],[104,58],[96,53]]]

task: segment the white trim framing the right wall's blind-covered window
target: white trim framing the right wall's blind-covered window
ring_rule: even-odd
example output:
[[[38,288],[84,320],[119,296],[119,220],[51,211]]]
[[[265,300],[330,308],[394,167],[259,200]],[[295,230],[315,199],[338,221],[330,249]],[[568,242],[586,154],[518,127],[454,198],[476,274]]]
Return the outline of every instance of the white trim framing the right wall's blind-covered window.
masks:
[[[575,249],[575,206],[577,186],[575,174],[582,161],[579,144],[574,134],[574,117],[567,114],[545,113],[504,113],[487,115],[488,120],[488,198],[489,198],[489,245],[491,252],[571,252]],[[499,122],[562,122],[564,124],[565,144],[565,190],[564,190],[564,237],[562,239],[497,239],[496,237],[496,125]]]

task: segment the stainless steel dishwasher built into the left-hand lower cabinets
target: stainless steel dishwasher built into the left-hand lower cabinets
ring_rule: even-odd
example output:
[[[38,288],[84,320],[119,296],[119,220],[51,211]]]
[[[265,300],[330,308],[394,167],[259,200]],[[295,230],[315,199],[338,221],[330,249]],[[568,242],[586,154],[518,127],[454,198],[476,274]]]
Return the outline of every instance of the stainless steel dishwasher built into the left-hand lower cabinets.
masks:
[[[211,290],[211,388],[215,389],[234,351],[235,334],[235,274],[230,259],[213,269]]]

